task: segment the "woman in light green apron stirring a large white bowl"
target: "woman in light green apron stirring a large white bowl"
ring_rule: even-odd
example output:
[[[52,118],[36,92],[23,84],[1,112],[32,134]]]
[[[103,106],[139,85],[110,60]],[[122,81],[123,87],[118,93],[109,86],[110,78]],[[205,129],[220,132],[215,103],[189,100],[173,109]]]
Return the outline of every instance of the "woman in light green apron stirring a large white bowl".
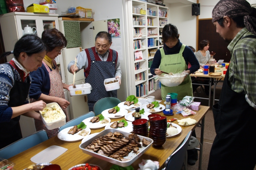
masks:
[[[176,26],[165,25],[162,31],[164,47],[156,51],[150,72],[153,75],[164,72],[172,73],[193,73],[200,68],[195,54],[188,46],[179,40],[180,34]],[[188,68],[188,64],[191,67]],[[156,71],[154,70],[156,69]],[[165,100],[167,93],[178,93],[178,101],[185,96],[193,96],[192,83],[190,76],[186,76],[184,81],[175,87],[166,87],[161,84],[162,99]]]

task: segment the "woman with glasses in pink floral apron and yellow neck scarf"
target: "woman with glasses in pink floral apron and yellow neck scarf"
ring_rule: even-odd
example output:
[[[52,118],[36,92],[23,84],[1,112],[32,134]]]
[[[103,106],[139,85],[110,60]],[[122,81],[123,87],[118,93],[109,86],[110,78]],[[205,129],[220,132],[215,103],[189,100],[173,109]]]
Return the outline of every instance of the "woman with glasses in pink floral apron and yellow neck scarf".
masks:
[[[59,68],[54,60],[62,52],[62,48],[67,46],[67,40],[61,32],[53,28],[42,33],[42,41],[47,47],[47,53],[44,56],[42,67],[30,74],[32,84],[29,97],[33,101],[43,100],[46,103],[58,103],[66,115],[66,122],[68,122],[67,107],[70,103],[65,100],[63,88],[68,90],[69,85],[62,83]],[[46,130],[49,137],[58,135],[58,129],[48,130],[42,121],[35,120],[35,125],[37,131]]]

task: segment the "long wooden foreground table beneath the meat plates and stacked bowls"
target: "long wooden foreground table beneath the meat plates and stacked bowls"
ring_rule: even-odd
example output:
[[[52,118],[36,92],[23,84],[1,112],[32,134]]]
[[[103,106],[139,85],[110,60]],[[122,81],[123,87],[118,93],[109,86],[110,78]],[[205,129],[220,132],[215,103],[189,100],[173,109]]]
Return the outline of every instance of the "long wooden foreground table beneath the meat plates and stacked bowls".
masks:
[[[160,102],[160,104],[164,105],[164,102]],[[168,137],[165,144],[161,148],[154,148],[151,146],[148,151],[146,151],[143,155],[140,156],[133,164],[132,166],[134,169],[138,169],[138,164],[142,162],[142,159],[151,159],[154,161],[158,161],[160,163],[159,169],[162,169],[164,166],[165,160],[174,152],[180,144],[185,139],[186,135],[190,130],[194,130],[196,126],[199,124],[199,122],[202,120],[202,126],[201,126],[201,143],[203,144],[204,139],[204,116],[208,112],[210,107],[207,106],[201,106],[199,111],[196,111],[196,115],[190,115],[188,117],[195,119],[197,123],[192,126],[181,126],[181,133],[174,137]],[[162,112],[159,113],[160,115],[164,115]],[[172,118],[178,118],[184,119],[184,117],[181,114],[174,114],[173,116],[166,116],[167,120],[170,120]],[[188,118],[186,117],[186,118]],[[118,120],[124,119],[124,117],[119,119],[111,119],[111,122],[115,122]],[[173,123],[178,124],[177,121],[174,121]],[[91,133],[97,133],[104,130],[105,127],[100,129],[91,129]],[[53,137],[49,140],[44,141],[41,144],[38,144],[24,152],[21,152],[18,155],[15,155],[14,157],[8,159],[12,162],[14,162],[15,169],[22,170],[24,168],[27,168],[29,165],[33,164],[33,162],[30,161],[30,158],[32,158],[37,153],[43,151],[44,149],[52,146],[57,145],[64,148],[67,148],[68,151],[66,151],[64,154],[62,154],[57,159],[54,159],[51,163],[52,164],[58,164],[60,165],[62,170],[67,170],[72,166],[78,165],[78,164],[84,164],[84,163],[91,163],[96,164],[100,166],[104,170],[110,169],[110,167],[113,165],[112,163],[109,163],[107,161],[104,161],[102,159],[95,158],[93,156],[87,155],[83,153],[81,149],[79,149],[79,144],[81,144],[81,140],[75,141],[75,142],[66,142],[60,140],[57,136]]]

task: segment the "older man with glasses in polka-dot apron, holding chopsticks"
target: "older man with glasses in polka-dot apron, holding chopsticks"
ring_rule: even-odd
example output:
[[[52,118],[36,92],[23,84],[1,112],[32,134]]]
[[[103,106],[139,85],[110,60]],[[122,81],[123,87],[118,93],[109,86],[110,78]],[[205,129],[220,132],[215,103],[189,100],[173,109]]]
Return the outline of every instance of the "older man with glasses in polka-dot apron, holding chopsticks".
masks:
[[[95,47],[87,48],[76,56],[76,67],[74,61],[68,64],[68,70],[73,74],[84,69],[85,83],[92,86],[91,93],[87,95],[89,111],[93,111],[94,104],[102,98],[117,98],[117,90],[107,92],[104,87],[107,78],[118,78],[121,84],[120,61],[117,52],[110,49],[111,44],[111,35],[105,31],[99,32],[95,37]]]

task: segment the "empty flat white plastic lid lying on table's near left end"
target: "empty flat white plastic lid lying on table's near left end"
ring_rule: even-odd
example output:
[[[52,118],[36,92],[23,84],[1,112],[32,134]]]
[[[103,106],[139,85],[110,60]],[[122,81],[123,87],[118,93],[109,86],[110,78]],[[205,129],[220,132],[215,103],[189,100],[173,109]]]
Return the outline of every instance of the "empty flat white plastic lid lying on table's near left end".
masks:
[[[41,162],[52,162],[54,159],[58,158],[60,155],[68,151],[68,149],[52,145],[45,150],[37,153],[30,160],[36,164]]]

